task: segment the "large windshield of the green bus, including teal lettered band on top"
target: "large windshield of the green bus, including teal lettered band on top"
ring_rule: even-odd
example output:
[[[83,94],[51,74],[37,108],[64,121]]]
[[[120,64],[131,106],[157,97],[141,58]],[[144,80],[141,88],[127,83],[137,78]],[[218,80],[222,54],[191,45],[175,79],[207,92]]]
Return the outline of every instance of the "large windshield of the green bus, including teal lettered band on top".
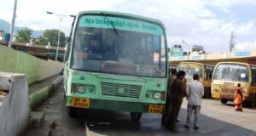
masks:
[[[162,27],[118,17],[83,15],[74,33],[72,68],[142,77],[166,77]]]

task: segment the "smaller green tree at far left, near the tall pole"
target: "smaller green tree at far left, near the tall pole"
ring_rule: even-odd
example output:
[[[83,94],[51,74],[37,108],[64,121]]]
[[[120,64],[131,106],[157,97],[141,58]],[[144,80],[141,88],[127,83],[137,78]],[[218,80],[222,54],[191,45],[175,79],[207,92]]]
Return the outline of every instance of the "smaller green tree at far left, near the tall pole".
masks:
[[[17,31],[16,39],[18,42],[29,42],[32,36],[32,30],[30,29],[23,29]]]

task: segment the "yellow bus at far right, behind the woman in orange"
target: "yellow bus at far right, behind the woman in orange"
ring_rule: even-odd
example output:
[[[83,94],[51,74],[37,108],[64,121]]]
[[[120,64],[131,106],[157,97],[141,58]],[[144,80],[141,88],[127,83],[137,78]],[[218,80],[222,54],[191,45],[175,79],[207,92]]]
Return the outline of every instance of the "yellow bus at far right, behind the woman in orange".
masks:
[[[250,105],[256,102],[256,65],[239,62],[220,62],[212,78],[212,97],[226,104],[234,99],[237,84],[241,83],[243,99]]]

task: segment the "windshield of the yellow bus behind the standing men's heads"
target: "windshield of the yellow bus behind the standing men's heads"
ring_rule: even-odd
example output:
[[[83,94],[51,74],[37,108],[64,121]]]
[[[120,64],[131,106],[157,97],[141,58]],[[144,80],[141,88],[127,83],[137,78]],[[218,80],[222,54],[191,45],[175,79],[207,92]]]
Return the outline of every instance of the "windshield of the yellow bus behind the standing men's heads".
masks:
[[[186,78],[193,78],[194,74],[198,74],[199,77],[202,77],[202,65],[197,64],[181,64],[178,65],[177,71],[185,71]]]

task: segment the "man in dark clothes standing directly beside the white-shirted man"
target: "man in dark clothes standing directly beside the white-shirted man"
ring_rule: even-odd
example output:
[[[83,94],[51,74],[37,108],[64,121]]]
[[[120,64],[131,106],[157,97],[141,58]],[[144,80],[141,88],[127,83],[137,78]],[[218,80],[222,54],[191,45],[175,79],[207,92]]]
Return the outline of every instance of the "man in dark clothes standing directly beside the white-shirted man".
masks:
[[[171,87],[171,106],[172,109],[169,110],[169,115],[167,119],[166,127],[170,129],[172,132],[177,132],[176,128],[176,119],[178,116],[178,111],[183,103],[183,97],[186,94],[186,84],[187,80],[185,77],[184,71],[177,72],[177,78],[172,82]]]

